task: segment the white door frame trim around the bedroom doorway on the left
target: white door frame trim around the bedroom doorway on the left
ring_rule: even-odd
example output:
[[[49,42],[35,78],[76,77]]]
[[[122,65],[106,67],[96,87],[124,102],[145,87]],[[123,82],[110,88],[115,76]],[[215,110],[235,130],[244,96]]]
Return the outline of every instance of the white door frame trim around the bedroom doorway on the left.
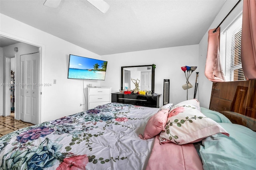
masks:
[[[10,38],[10,39],[14,39],[14,40],[17,40],[17,41],[20,41],[20,42],[24,42],[26,44],[30,44],[30,45],[33,45],[33,46],[37,46],[39,48],[39,67],[38,67],[38,74],[39,74],[39,82],[40,84],[42,84],[42,82],[44,81],[44,70],[45,70],[45,66],[44,66],[44,63],[45,63],[45,45],[44,44],[40,44],[38,42],[34,42],[32,40],[28,40],[26,38],[21,38],[20,36],[15,36],[15,35],[12,35],[12,34],[8,34],[6,32],[0,32],[0,36],[4,36],[6,38]],[[4,58],[4,56],[3,56]],[[1,66],[0,67],[3,67],[3,62],[1,63]],[[3,70],[5,72],[5,69]],[[4,76],[5,76],[5,73],[4,73]],[[18,75],[16,75],[18,76]],[[1,79],[4,80],[4,77],[2,77]],[[3,81],[1,80],[1,81]],[[42,120],[42,116],[44,114],[44,96],[42,95],[44,92],[44,86],[40,86],[39,87],[39,90],[38,90],[38,124],[41,123],[41,120]],[[5,92],[4,92],[5,93]],[[4,93],[1,93],[0,94],[0,102],[2,104],[2,106],[5,106],[5,103],[4,103]],[[16,96],[16,97],[19,97],[20,98],[20,95]],[[1,99],[3,101],[1,101]],[[18,115],[17,115],[18,114]],[[17,118],[18,120],[20,120],[20,113],[17,113],[15,112],[15,118]]]

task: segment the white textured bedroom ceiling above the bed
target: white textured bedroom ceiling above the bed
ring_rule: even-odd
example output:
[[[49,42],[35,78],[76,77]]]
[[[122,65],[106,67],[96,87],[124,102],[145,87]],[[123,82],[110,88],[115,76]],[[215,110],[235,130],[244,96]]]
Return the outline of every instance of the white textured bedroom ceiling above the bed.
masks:
[[[99,55],[199,44],[226,0],[0,0],[0,13]],[[2,45],[2,42],[1,42]]]

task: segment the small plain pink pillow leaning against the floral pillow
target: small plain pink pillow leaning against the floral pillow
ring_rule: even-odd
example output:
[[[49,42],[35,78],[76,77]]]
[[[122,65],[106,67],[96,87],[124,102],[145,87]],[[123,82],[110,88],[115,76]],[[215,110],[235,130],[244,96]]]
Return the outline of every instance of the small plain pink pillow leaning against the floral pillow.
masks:
[[[167,122],[167,118],[169,115],[169,108],[160,110],[156,114],[154,114],[149,120],[144,130],[144,136],[139,134],[139,137],[143,140],[153,138],[154,136],[160,134]]]

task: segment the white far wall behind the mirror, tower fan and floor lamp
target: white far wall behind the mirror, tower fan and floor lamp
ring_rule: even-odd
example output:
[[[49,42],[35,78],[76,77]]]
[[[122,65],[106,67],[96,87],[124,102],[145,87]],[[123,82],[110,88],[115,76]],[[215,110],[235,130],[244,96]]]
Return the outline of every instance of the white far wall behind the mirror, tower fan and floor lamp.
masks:
[[[198,45],[105,55],[101,59],[108,61],[108,66],[106,79],[100,85],[112,87],[112,92],[119,92],[121,88],[121,66],[156,64],[155,93],[163,94],[164,79],[170,79],[170,103],[177,104],[186,100],[187,95],[186,90],[182,88],[182,85],[186,84],[186,78],[180,67],[198,66]],[[196,80],[195,72],[189,78],[193,86]],[[194,87],[188,89],[188,99],[193,97]],[[160,96],[159,105],[163,105],[163,95]]]

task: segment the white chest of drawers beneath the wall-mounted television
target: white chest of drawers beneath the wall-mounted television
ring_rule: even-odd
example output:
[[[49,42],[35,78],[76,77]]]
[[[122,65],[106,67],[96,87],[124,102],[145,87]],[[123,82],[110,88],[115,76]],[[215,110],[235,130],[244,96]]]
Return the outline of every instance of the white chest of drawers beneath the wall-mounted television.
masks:
[[[110,87],[88,87],[88,109],[111,103]]]

